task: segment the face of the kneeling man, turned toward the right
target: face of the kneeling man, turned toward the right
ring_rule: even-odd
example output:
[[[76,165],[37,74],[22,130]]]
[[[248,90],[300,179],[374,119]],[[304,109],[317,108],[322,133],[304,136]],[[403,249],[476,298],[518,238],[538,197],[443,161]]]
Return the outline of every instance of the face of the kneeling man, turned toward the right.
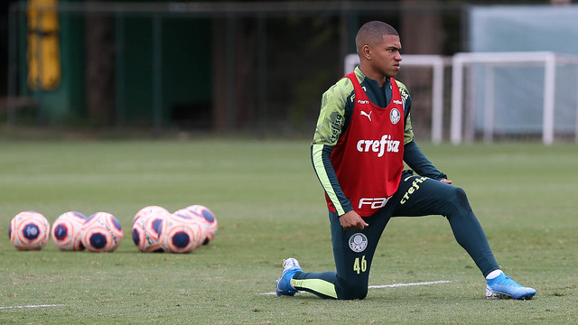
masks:
[[[371,66],[387,78],[396,77],[399,71],[399,62],[402,60],[401,42],[399,36],[384,35],[383,42],[379,42],[372,49]]]

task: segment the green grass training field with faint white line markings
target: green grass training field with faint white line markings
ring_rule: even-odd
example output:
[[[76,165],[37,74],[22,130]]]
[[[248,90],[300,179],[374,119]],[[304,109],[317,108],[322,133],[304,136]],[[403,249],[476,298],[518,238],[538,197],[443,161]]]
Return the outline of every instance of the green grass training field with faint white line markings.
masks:
[[[378,246],[363,301],[274,292],[284,257],[333,270],[329,221],[307,141],[0,143],[2,324],[465,324],[578,322],[578,147],[561,144],[422,149],[464,188],[503,269],[533,301],[486,301],[485,283],[441,217],[396,218]],[[187,255],[144,254],[138,209],[202,204],[219,232]],[[113,213],[114,253],[10,245],[7,228],[33,209]]]

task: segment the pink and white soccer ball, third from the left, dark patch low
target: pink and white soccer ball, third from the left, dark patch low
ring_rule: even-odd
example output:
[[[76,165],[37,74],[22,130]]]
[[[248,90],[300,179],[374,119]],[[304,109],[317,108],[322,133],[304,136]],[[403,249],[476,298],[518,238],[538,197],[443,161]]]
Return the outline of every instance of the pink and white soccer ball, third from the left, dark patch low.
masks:
[[[91,252],[114,252],[123,239],[123,228],[112,214],[97,212],[82,225],[80,238]]]

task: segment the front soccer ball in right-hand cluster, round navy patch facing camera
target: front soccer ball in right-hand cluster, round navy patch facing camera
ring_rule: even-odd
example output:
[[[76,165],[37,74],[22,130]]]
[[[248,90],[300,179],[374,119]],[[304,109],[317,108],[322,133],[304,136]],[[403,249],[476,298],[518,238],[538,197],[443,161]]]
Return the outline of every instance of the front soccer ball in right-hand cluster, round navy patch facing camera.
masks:
[[[166,218],[163,250],[170,253],[189,253],[201,243],[202,228],[190,218],[171,214]]]

